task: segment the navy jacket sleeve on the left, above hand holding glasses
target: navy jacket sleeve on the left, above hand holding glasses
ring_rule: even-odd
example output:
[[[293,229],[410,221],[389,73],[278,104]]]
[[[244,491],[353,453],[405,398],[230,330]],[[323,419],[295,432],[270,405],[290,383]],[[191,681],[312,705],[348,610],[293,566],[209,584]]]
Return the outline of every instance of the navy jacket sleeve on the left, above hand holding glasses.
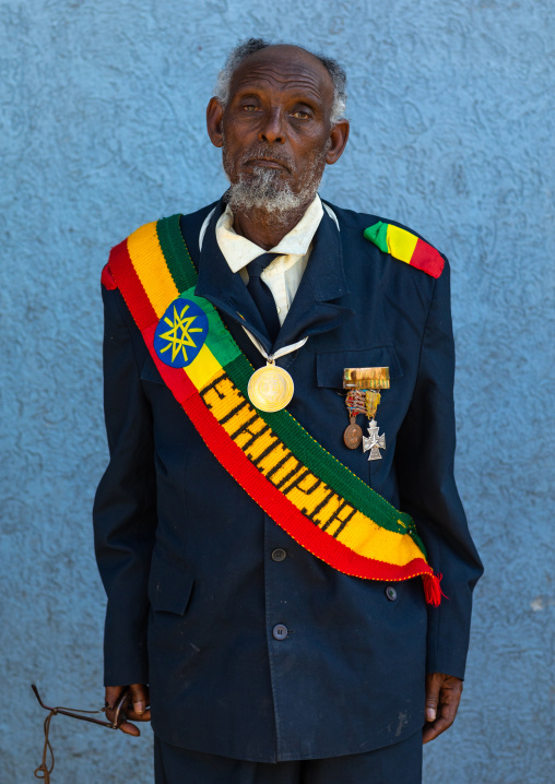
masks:
[[[105,685],[149,682],[146,585],[156,530],[152,414],[140,382],[140,337],[120,293],[104,299],[104,409],[109,463],[93,507],[107,594]],[[132,334],[137,332],[137,335]]]

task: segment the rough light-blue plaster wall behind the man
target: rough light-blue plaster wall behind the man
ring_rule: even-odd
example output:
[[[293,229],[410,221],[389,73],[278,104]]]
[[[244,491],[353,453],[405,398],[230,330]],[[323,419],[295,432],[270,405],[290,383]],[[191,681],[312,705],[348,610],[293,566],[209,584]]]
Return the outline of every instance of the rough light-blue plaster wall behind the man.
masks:
[[[553,781],[553,8],[0,3],[0,781],[31,781],[38,762],[32,680],[47,700],[102,702],[99,271],[142,222],[222,192],[203,111],[250,34],[343,60],[353,132],[323,193],[412,225],[453,266],[457,474],[487,572],[459,718],[426,748],[425,782]],[[59,784],[152,781],[149,730],[135,741],[59,717],[52,741]]]

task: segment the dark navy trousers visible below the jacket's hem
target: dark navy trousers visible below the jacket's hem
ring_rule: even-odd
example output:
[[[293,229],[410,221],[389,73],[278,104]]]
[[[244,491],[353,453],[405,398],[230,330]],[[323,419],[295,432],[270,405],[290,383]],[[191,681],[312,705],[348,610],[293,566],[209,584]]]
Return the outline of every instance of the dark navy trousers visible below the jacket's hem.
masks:
[[[361,755],[249,762],[182,749],[154,736],[155,784],[422,784],[422,733]]]

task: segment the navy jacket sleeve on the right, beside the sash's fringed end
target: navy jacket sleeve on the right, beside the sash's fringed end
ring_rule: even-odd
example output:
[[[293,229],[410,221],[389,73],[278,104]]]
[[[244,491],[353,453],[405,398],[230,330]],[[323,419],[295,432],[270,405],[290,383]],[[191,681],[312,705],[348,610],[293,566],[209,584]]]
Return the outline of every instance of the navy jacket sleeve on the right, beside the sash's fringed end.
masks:
[[[454,343],[450,273],[435,283],[412,402],[395,450],[401,508],[414,519],[444,597],[428,608],[427,672],[464,677],[472,591],[483,567],[453,475]]]

